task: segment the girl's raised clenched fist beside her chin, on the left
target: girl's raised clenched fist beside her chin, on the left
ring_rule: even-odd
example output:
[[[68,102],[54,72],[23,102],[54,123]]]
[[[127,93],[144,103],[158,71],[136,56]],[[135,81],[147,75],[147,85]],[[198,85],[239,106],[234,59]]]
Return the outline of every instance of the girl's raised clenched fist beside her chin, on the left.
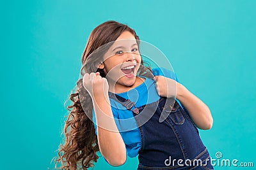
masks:
[[[104,95],[108,94],[108,81],[106,78],[102,78],[99,72],[84,74],[83,86],[92,99],[95,99],[95,97],[104,97]]]

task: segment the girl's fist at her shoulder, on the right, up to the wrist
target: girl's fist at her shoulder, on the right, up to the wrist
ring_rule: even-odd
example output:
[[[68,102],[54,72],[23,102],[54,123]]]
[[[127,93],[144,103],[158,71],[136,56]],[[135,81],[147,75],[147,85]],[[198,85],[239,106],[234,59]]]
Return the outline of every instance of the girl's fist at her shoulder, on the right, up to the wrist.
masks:
[[[156,81],[156,90],[159,96],[176,97],[177,81],[166,78],[164,76],[154,76],[154,80]]]

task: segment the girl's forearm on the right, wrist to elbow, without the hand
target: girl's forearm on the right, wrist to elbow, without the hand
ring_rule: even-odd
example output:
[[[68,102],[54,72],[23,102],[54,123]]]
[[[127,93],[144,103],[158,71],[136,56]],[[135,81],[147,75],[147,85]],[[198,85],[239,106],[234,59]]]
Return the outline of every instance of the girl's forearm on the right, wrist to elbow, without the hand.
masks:
[[[206,104],[180,83],[177,83],[176,97],[188,110],[193,122],[199,129],[211,129],[213,120],[211,111]]]

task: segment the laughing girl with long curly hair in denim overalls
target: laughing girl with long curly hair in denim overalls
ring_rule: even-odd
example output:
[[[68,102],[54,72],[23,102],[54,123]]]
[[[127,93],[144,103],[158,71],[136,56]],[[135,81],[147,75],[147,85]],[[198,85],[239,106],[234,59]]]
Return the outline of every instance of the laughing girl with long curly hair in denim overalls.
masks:
[[[92,167],[98,151],[112,166],[138,155],[138,169],[213,169],[197,129],[211,129],[211,111],[172,71],[143,66],[139,40],[115,21],[93,29],[70,95],[61,169]]]

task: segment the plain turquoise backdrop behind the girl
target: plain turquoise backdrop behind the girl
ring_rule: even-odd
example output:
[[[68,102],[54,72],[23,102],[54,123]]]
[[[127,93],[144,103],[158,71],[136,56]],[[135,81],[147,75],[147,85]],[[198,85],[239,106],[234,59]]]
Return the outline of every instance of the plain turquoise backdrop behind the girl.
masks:
[[[256,166],[256,1],[1,2],[0,169],[54,167],[76,85],[81,54],[94,27],[117,20],[157,46],[214,124],[200,131],[211,157]],[[137,158],[111,167],[136,169]],[[253,169],[218,167],[215,169]]]

